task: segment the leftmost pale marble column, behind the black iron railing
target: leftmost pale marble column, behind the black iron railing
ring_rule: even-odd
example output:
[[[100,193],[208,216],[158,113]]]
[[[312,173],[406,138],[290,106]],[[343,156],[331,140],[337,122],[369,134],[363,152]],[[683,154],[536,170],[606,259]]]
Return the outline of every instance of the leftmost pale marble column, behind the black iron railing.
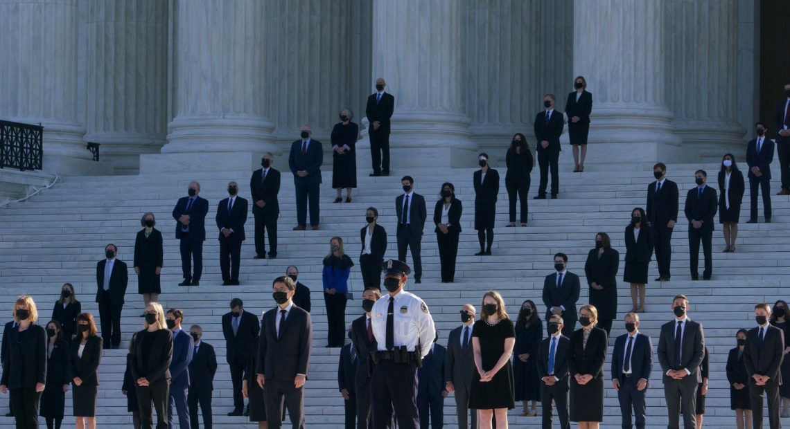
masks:
[[[0,0],[0,116],[41,124],[43,170],[92,159],[77,121],[77,0]]]

